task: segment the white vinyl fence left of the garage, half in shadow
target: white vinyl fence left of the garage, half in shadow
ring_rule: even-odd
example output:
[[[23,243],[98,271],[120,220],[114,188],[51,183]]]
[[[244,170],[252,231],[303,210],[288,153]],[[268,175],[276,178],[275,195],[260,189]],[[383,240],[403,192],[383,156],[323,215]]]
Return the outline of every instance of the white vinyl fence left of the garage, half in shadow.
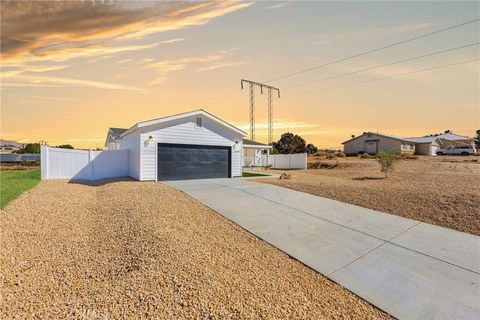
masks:
[[[85,151],[41,147],[42,180],[99,180],[128,176],[128,150]]]

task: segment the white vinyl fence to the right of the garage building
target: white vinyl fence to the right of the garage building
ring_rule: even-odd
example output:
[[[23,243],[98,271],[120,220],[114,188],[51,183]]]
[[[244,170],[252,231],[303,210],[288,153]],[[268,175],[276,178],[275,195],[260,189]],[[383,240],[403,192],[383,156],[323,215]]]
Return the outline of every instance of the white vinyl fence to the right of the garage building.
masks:
[[[243,157],[243,166],[271,166],[274,169],[307,169],[307,154],[271,154],[260,157]]]

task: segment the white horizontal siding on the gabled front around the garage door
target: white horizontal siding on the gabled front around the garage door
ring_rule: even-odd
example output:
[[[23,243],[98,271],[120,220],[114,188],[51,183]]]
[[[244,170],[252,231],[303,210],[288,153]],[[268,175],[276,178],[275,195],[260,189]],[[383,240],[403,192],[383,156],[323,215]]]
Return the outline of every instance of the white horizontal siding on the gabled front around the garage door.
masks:
[[[232,150],[232,176],[242,174],[241,142],[242,136],[223,126],[202,117],[202,127],[195,124],[197,116],[142,128],[140,134],[140,179],[156,180],[157,143],[178,143],[195,145],[214,145],[233,147],[239,142],[238,150]],[[132,134],[133,135],[133,134]],[[153,143],[147,143],[149,137]],[[129,137],[129,136],[127,136]],[[125,146],[124,146],[125,147]]]

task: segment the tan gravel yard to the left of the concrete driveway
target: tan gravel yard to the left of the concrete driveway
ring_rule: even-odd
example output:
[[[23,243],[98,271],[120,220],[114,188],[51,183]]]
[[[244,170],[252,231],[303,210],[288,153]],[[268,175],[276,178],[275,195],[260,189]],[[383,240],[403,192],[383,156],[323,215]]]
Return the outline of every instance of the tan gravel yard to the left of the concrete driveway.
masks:
[[[389,318],[159,183],[43,181],[0,219],[1,319]]]

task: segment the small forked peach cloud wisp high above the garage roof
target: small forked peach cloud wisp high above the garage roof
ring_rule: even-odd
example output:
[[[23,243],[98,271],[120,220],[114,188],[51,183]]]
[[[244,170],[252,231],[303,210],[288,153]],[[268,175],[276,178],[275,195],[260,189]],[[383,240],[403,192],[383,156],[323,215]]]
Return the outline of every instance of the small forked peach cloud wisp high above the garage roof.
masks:
[[[150,63],[147,65],[147,68],[153,69],[158,73],[158,76],[151,82],[152,84],[158,84],[164,81],[167,78],[167,75],[171,72],[186,69],[192,64],[213,62],[222,58],[222,55],[205,55],[164,60],[160,62]]]

